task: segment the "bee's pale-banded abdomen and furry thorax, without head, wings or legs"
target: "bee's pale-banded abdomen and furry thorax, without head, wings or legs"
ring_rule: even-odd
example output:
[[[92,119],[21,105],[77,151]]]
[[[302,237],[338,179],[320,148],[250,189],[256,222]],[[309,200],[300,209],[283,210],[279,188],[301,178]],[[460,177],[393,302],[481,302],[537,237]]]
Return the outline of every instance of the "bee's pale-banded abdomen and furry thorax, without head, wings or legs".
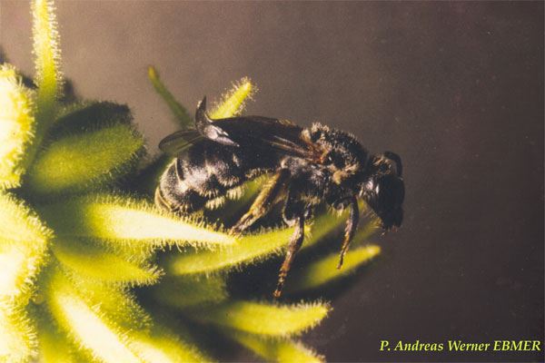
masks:
[[[290,171],[288,189],[297,191],[300,201],[310,205],[326,201],[337,209],[344,208],[346,203],[335,201],[343,201],[342,197],[348,197],[348,193],[336,188],[334,180],[341,178],[345,170],[360,168],[364,171],[365,165],[360,165],[360,162],[372,162],[369,152],[352,135],[320,123],[314,123],[309,129],[298,129],[299,138],[308,142],[322,138],[324,143],[327,142],[324,147],[328,152],[325,154],[339,150],[342,144],[348,146],[355,157],[347,161],[344,155],[339,154],[338,160],[319,164],[270,152],[263,145],[230,146],[204,139],[179,153],[169,165],[155,191],[155,202],[163,209],[181,213],[212,209],[225,199],[239,197],[244,182],[282,168]],[[287,205],[284,219],[292,220],[293,208],[295,206]],[[286,215],[288,213],[290,215]]]

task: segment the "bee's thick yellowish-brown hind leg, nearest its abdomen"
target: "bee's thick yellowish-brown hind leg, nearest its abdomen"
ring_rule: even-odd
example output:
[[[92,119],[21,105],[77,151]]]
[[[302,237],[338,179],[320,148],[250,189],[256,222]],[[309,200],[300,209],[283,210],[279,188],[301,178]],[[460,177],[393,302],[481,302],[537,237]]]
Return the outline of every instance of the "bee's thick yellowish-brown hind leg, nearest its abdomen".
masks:
[[[243,215],[240,221],[231,229],[232,234],[240,234],[248,227],[250,227],[255,221],[259,220],[268,211],[271,210],[274,201],[284,191],[290,178],[290,171],[287,169],[281,169],[276,172],[270,182],[264,186],[263,190],[259,193],[255,201],[253,201],[250,210]]]

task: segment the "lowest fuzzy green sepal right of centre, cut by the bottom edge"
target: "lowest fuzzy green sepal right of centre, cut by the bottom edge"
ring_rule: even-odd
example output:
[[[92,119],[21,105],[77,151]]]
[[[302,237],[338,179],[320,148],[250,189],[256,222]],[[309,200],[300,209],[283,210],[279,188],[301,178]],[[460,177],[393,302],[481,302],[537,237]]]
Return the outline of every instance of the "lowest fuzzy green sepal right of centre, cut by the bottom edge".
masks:
[[[229,337],[267,361],[279,363],[319,363],[324,361],[324,358],[312,349],[289,338],[263,338],[242,332],[235,332]]]

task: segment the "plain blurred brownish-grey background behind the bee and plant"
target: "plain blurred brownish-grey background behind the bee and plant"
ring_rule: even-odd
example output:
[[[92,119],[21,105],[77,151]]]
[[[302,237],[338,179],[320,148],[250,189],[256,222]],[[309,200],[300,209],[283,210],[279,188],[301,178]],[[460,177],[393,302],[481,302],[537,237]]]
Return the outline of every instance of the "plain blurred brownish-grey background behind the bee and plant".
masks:
[[[1,36],[32,73],[25,2]],[[381,353],[380,339],[543,341],[543,3],[58,4],[78,93],[128,103],[154,145],[183,103],[250,76],[248,113],[321,121],[404,163],[405,221],[304,340],[330,361],[541,360],[543,352]]]

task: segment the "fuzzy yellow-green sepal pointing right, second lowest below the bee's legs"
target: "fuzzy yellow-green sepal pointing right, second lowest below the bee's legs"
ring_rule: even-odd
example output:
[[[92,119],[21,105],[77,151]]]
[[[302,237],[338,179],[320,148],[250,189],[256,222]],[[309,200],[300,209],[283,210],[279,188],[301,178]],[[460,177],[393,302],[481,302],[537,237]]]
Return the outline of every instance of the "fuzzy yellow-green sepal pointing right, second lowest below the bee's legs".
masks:
[[[276,305],[265,302],[233,301],[191,316],[221,327],[271,337],[300,334],[316,326],[330,311],[321,302],[298,305]]]

